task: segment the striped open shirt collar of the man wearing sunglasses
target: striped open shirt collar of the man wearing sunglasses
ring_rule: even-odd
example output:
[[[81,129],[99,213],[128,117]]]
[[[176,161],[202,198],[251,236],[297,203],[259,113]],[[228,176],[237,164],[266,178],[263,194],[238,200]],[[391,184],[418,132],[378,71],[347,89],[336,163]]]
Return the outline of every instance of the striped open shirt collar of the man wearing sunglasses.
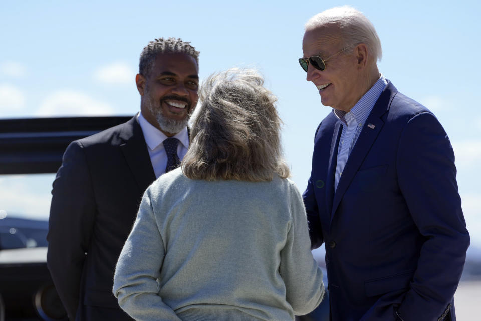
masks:
[[[379,96],[381,95],[382,91],[387,85],[387,80],[381,74],[379,79],[374,83],[374,85],[369,89],[359,101],[351,108],[349,112],[345,112],[339,109],[333,109],[332,112],[334,115],[341,120],[344,124],[346,124],[345,117],[352,117],[355,119],[357,124],[364,124],[367,117],[371,113],[374,104],[378,100]]]

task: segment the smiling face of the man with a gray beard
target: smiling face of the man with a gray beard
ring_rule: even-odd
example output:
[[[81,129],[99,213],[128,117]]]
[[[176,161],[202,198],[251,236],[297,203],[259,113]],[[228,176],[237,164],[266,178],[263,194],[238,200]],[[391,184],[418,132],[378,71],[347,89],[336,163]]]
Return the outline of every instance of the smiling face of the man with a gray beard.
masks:
[[[164,53],[155,59],[150,75],[138,74],[145,119],[169,137],[186,125],[198,101],[198,66],[188,54]]]

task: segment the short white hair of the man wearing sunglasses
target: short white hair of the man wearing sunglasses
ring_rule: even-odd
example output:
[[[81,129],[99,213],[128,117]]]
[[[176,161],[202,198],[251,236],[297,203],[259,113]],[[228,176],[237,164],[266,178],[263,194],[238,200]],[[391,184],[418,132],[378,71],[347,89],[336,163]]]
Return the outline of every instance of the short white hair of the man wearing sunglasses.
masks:
[[[311,17],[304,27],[308,31],[329,25],[339,28],[344,47],[366,44],[374,58],[373,62],[381,60],[382,48],[379,36],[369,19],[360,11],[350,6],[334,7]]]

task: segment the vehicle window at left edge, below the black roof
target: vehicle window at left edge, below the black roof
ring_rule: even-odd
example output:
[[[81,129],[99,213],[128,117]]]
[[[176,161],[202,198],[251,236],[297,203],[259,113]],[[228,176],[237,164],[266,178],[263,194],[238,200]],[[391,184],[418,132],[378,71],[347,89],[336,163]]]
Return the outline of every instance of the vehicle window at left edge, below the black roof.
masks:
[[[0,176],[0,249],[47,246],[55,174]]]

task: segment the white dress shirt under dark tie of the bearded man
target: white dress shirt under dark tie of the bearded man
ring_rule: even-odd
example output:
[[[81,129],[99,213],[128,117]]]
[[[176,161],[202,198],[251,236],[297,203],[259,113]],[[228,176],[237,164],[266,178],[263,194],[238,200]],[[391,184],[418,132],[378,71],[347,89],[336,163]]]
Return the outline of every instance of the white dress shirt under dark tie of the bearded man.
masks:
[[[154,169],[155,177],[158,178],[160,175],[165,173],[165,168],[167,167],[167,153],[164,148],[164,140],[169,138],[163,132],[152,126],[145,118],[142,113],[139,112],[137,115],[139,120],[140,128],[144,134],[145,143],[147,144],[147,149],[149,151],[150,162]],[[178,132],[173,138],[177,138],[180,143],[177,146],[177,156],[182,160],[187,149],[189,148],[189,135],[187,132],[187,127]]]

